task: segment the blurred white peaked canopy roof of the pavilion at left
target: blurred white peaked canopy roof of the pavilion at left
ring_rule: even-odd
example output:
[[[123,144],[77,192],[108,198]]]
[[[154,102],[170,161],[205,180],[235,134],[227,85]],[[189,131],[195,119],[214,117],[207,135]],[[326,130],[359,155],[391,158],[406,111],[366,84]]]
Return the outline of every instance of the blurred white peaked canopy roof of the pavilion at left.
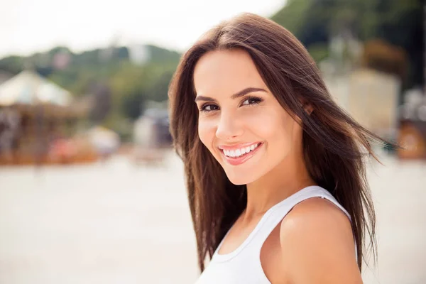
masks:
[[[71,94],[66,89],[28,70],[0,84],[0,106],[56,104],[65,107],[71,101]]]

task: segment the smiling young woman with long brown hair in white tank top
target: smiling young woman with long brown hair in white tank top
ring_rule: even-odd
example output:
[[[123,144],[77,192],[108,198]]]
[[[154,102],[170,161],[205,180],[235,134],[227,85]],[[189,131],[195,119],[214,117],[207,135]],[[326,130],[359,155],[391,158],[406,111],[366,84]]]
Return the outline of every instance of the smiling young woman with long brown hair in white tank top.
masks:
[[[380,138],[289,31],[253,14],[222,23],[182,56],[169,97],[198,284],[362,283],[375,239],[363,158]]]

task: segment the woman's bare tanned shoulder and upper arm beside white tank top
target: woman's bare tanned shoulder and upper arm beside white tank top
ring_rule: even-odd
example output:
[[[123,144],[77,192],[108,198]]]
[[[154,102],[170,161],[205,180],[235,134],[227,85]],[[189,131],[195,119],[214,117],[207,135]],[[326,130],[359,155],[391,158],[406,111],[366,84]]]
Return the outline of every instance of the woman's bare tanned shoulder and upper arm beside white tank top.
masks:
[[[349,218],[327,200],[297,204],[281,222],[280,244],[290,283],[362,283]]]

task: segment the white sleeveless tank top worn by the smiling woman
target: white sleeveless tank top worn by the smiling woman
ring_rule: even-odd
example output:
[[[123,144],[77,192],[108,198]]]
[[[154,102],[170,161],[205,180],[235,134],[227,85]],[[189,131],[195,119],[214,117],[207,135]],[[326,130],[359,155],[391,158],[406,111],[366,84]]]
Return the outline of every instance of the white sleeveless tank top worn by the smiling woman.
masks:
[[[351,219],[348,212],[327,190],[319,186],[305,187],[268,209],[263,214],[261,221],[237,249],[231,253],[219,254],[218,251],[229,234],[228,231],[214,252],[212,260],[195,284],[271,284],[261,266],[260,256],[263,243],[296,204],[312,197],[322,197],[329,200],[342,209],[344,214]]]

